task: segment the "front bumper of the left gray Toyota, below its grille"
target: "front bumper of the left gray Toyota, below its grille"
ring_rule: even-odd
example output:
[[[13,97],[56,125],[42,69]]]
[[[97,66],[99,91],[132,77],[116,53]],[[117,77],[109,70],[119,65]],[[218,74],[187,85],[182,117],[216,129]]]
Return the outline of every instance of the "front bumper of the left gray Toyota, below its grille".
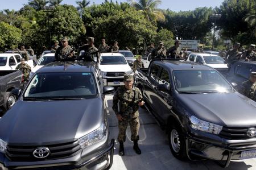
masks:
[[[8,166],[5,167],[0,163],[0,170],[10,170],[10,169],[33,169],[33,170],[83,170],[83,169],[110,169],[113,164],[113,154],[114,154],[114,139],[111,140],[110,145],[105,150],[100,153],[93,155],[90,159],[82,159],[80,164],[73,164],[75,161],[70,161],[67,163],[52,163],[52,164],[40,164],[40,162],[34,162],[36,165],[27,166]],[[110,158],[109,158],[110,157]],[[68,160],[68,159],[67,159]],[[55,161],[57,162],[57,160]],[[80,162],[80,161],[79,161]]]

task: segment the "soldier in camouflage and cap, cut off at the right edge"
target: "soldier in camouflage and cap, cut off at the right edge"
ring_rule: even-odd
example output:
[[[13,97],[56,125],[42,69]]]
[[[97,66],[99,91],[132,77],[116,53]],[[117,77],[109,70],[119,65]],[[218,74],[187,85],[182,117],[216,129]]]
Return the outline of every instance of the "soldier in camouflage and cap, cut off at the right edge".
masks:
[[[256,101],[256,72],[251,72],[250,79],[242,83],[240,93]]]

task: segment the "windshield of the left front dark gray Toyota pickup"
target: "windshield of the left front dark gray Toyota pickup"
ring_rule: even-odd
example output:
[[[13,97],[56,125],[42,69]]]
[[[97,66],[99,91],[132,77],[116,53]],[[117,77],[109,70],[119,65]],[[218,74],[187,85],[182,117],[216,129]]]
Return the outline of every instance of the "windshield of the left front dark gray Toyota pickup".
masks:
[[[84,98],[96,93],[96,82],[90,72],[38,73],[30,81],[24,99]]]

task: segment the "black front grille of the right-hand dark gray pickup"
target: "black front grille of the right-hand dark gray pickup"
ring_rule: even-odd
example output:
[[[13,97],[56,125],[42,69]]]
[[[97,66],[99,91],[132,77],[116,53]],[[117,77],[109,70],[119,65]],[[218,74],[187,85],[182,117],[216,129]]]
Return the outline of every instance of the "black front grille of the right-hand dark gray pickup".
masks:
[[[220,136],[226,139],[250,139],[255,138],[247,136],[247,131],[253,127],[222,127]]]

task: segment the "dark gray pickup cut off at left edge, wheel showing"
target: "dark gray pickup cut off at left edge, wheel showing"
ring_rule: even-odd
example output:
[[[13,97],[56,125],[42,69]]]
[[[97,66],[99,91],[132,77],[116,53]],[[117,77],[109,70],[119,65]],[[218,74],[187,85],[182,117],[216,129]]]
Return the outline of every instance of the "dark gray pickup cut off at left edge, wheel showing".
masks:
[[[0,71],[0,107],[6,110],[14,105],[16,98],[11,94],[11,90],[23,86],[23,76],[21,71]]]

